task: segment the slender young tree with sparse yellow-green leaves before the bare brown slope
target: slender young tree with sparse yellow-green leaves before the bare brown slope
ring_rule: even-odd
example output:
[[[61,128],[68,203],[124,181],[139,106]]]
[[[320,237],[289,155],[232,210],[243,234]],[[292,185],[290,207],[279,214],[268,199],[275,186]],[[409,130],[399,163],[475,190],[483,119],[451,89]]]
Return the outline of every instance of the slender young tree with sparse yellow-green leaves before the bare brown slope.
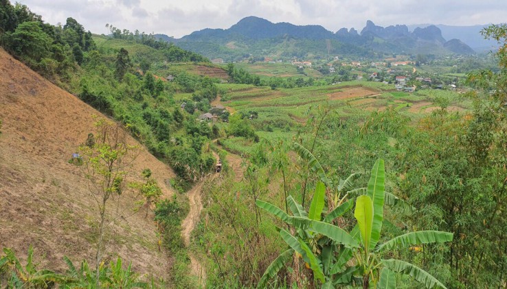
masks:
[[[128,145],[126,131],[111,121],[100,119],[95,123],[95,143],[79,147],[82,171],[89,181],[89,194],[96,203],[99,215],[98,241],[95,255],[95,285],[99,288],[99,270],[104,251],[106,218],[109,203],[118,201],[125,188],[127,169],[138,154],[138,147]]]

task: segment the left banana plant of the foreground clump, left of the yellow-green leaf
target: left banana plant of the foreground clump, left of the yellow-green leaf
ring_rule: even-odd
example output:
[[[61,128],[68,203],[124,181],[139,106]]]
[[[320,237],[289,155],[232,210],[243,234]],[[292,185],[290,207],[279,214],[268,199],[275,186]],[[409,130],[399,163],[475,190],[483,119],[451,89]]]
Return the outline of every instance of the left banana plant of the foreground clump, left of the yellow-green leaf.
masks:
[[[291,260],[293,253],[300,255],[313,271],[315,280],[321,284],[326,284],[333,278],[347,279],[347,276],[351,276],[350,271],[341,272],[339,266],[335,265],[334,253],[339,246],[359,248],[359,242],[345,230],[333,225],[332,222],[335,218],[352,210],[353,201],[342,203],[335,210],[323,216],[326,203],[325,193],[326,186],[320,181],[315,188],[308,212],[289,195],[286,201],[292,216],[271,203],[256,201],[258,207],[278,216],[282,221],[295,228],[295,234],[282,228],[279,229],[280,236],[289,245],[289,249],[281,253],[267,268],[258,283],[258,288],[264,288],[267,281],[274,277],[286,262]]]

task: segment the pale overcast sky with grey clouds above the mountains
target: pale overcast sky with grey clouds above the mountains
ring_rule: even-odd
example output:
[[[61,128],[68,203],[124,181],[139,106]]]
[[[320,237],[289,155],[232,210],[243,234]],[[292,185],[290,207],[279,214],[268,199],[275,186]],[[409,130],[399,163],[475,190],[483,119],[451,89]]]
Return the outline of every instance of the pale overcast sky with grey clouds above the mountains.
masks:
[[[15,0],[11,0],[14,3]],[[505,23],[507,0],[17,0],[46,22],[75,18],[84,28],[106,34],[106,23],[120,29],[175,38],[204,28],[229,28],[246,16],[273,23],[322,25],[361,31],[376,25]]]

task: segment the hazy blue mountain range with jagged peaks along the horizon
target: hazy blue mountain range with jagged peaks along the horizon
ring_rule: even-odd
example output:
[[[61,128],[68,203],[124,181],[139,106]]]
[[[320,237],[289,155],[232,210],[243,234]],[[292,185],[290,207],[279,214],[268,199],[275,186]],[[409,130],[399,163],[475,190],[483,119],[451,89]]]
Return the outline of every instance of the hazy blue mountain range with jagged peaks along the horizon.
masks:
[[[493,44],[482,39],[485,26],[392,25],[381,27],[372,21],[357,32],[354,28],[330,32],[320,25],[271,23],[249,16],[229,29],[203,29],[182,38],[156,34],[183,49],[207,58],[225,61],[244,58],[325,58],[354,55],[381,58],[390,54],[474,54]],[[413,29],[413,30],[412,30]],[[411,31],[412,30],[412,31]],[[466,42],[458,39],[464,39]],[[449,40],[446,40],[449,39]]]

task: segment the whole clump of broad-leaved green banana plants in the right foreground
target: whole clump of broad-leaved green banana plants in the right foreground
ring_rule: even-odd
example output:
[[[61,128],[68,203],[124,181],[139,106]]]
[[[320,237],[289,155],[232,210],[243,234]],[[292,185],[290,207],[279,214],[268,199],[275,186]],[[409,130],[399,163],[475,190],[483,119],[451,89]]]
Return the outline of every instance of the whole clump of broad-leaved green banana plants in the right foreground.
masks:
[[[280,254],[267,268],[258,288],[265,286],[294,252],[299,253],[304,262],[309,264],[314,278],[322,284],[322,288],[336,288],[341,285],[396,288],[395,273],[410,275],[427,288],[445,288],[438,279],[414,264],[381,258],[387,250],[407,248],[416,244],[449,242],[453,238],[453,234],[442,231],[416,231],[378,244],[383,222],[384,184],[383,160],[377,160],[372,168],[365,194],[356,199],[354,217],[357,219],[357,225],[350,234],[331,222],[352,209],[352,200],[342,203],[320,221],[325,191],[322,182],[317,185],[308,214],[291,196],[287,198],[287,203],[293,216],[289,216],[275,205],[258,200],[257,205],[260,208],[293,225],[297,231],[293,236],[288,231],[280,229],[280,236],[290,248]],[[311,238],[303,238],[305,236],[314,236],[318,240],[319,248],[311,249],[308,244]]]

